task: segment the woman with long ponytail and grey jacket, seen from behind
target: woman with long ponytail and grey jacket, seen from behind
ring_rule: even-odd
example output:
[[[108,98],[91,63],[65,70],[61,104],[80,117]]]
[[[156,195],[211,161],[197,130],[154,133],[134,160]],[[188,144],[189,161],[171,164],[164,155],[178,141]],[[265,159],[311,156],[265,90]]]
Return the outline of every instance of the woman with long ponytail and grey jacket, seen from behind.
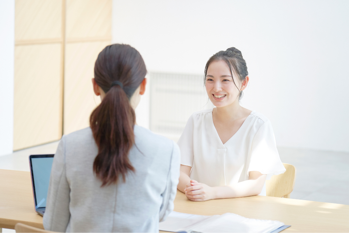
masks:
[[[179,148],[136,125],[146,66],[129,45],[99,53],[101,104],[90,127],[64,135],[54,156],[43,224],[58,232],[158,232],[173,210]]]

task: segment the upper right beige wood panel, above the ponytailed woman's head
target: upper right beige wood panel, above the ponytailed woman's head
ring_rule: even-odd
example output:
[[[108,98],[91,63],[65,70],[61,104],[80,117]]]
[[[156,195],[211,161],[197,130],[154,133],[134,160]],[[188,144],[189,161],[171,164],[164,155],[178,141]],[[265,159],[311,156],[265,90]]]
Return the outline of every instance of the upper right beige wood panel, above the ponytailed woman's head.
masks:
[[[67,42],[111,40],[112,0],[67,0]]]

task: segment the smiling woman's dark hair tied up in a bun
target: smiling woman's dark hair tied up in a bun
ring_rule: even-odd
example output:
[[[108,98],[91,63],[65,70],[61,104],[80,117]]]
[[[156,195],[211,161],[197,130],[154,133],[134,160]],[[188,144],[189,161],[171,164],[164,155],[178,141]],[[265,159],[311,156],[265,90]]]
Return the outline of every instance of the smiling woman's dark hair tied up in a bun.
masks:
[[[210,65],[210,63],[212,61],[218,61],[218,60],[223,60],[227,63],[227,65],[229,66],[231,77],[233,77],[232,72],[235,72],[237,77],[240,79],[241,82],[243,82],[246,79],[246,76],[248,75],[246,61],[242,57],[242,53],[240,50],[238,50],[237,48],[231,47],[225,51],[217,52],[212,57],[210,57],[210,59],[208,59],[206,66],[205,66],[205,76],[203,79],[204,85],[206,85],[206,75],[207,75],[208,66]],[[233,79],[233,82],[234,82],[236,88],[238,88],[234,79]],[[244,95],[244,93],[242,91],[240,91],[239,101],[241,100],[243,95]]]

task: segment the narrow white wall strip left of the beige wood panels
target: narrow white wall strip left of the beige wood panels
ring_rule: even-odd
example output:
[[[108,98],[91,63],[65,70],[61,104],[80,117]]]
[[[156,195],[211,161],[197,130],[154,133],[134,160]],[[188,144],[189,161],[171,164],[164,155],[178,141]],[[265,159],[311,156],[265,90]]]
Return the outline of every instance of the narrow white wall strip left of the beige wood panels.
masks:
[[[0,0],[0,155],[13,149],[15,0]]]

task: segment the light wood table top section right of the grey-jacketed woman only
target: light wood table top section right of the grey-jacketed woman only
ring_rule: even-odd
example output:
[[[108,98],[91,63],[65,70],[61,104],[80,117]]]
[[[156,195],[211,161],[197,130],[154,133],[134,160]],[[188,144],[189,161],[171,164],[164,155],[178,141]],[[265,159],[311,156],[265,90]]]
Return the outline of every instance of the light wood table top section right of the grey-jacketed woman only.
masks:
[[[349,232],[349,205],[325,202],[266,196],[192,202],[177,190],[174,211],[200,215],[229,212],[291,225],[282,232]]]

